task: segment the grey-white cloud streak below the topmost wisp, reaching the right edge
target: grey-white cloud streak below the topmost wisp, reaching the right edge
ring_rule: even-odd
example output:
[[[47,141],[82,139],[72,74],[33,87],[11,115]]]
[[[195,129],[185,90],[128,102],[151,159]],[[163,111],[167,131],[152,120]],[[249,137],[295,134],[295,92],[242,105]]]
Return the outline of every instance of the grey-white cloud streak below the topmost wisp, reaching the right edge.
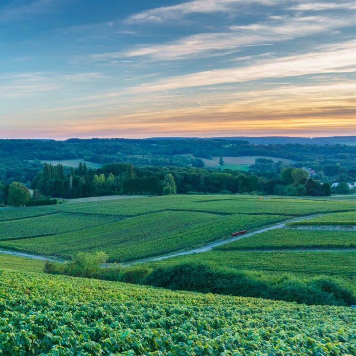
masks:
[[[93,54],[94,60],[146,57],[151,60],[174,60],[212,55],[223,49],[265,45],[327,33],[354,26],[353,14],[323,16],[270,16],[263,22],[233,25],[229,31],[200,33],[158,45],[137,45],[120,52]]]

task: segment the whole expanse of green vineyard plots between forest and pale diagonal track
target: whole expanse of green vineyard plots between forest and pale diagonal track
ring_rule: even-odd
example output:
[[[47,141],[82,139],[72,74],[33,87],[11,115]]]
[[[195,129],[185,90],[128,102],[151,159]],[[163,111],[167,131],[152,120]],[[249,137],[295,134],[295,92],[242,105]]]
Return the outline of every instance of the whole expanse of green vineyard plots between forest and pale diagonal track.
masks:
[[[104,251],[110,262],[126,262],[222,240],[238,230],[354,208],[352,201],[242,195],[117,197],[16,208],[0,212],[0,247],[64,258]]]

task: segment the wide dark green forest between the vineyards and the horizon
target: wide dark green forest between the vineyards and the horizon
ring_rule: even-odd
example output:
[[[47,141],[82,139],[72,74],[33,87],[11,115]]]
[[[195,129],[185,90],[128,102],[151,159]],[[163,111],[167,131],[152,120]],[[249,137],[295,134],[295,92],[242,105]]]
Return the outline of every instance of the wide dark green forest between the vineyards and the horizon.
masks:
[[[223,156],[248,155],[276,159],[256,158],[245,172],[221,168]],[[204,167],[203,159],[213,156],[221,157],[221,167]],[[70,168],[41,161],[62,159],[84,159],[102,166],[92,169],[80,162]],[[22,198],[15,194],[15,200],[10,199],[14,205],[50,197],[111,194],[348,194],[347,182],[355,181],[355,159],[354,147],[339,144],[261,145],[195,138],[0,140],[0,201],[9,203],[9,194],[11,198],[15,192]],[[339,186],[331,189],[334,181]],[[34,192],[32,197],[28,188]]]

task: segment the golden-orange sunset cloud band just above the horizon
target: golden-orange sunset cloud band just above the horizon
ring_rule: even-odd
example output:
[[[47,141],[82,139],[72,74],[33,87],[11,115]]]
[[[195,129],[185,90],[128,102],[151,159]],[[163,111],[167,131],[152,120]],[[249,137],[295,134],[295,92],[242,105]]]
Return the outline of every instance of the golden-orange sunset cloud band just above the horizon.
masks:
[[[57,120],[56,134],[62,137],[70,134],[81,137],[347,134],[354,127],[355,87],[352,82],[331,82],[239,93],[220,92],[224,102],[213,95],[217,103],[203,107],[181,107],[179,104],[176,108],[136,110],[126,114],[109,111],[93,113],[92,117],[82,115],[78,118],[76,115]],[[48,111],[44,114],[48,117]],[[48,123],[36,132],[45,136]]]

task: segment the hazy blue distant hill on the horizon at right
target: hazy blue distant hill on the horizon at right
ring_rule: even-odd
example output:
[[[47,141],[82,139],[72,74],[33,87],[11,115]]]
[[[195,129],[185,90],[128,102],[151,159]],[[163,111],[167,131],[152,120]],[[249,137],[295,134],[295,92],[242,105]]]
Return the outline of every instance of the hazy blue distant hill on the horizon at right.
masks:
[[[347,145],[356,146],[356,136],[330,136],[330,137],[289,137],[289,136],[265,136],[265,137],[249,137],[249,136],[233,136],[233,137],[211,137],[223,140],[238,140],[248,141],[255,145],[285,145],[288,143],[299,143],[301,145]],[[210,139],[211,139],[210,138]]]

